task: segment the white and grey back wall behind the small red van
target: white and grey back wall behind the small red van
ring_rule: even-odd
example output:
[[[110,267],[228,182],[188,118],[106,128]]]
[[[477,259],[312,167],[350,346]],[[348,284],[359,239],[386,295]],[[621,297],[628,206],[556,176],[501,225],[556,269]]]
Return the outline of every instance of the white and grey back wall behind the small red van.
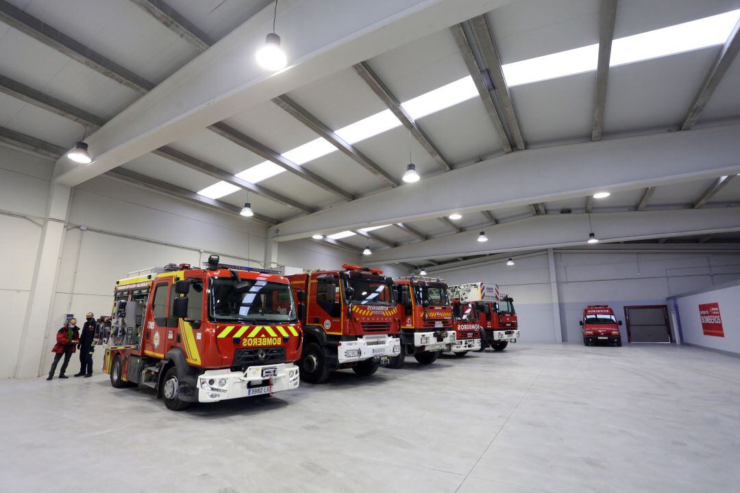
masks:
[[[638,274],[639,258],[639,274]],[[562,339],[580,343],[582,310],[589,304],[613,307],[624,319],[625,305],[670,305],[668,296],[740,279],[740,254],[620,254],[555,252]],[[434,274],[437,275],[437,274]],[[457,268],[440,273],[448,284],[487,281],[514,298],[523,341],[556,341],[546,253]],[[627,340],[626,327],[622,336]]]

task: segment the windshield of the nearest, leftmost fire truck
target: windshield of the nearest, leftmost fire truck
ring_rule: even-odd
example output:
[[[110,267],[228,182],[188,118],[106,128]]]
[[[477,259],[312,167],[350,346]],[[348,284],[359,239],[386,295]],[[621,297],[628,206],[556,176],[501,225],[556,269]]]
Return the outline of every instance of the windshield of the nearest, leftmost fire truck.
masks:
[[[295,322],[292,293],[279,282],[216,278],[209,294],[215,322]]]

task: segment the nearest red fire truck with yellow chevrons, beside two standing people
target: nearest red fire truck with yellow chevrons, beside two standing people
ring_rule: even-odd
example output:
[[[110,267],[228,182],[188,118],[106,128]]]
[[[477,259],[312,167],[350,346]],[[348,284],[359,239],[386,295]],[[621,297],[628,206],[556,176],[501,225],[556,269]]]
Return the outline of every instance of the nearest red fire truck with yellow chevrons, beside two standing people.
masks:
[[[168,409],[298,387],[302,333],[277,271],[169,264],[115,283],[104,367],[113,387],[150,387]]]

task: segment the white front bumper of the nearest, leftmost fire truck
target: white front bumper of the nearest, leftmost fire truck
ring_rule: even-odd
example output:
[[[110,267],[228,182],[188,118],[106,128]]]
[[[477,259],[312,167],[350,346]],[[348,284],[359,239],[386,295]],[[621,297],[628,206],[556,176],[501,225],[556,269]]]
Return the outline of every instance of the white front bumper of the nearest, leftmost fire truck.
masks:
[[[245,372],[206,370],[198,375],[198,402],[274,394],[298,388],[298,367],[292,363],[249,367]],[[223,384],[223,385],[221,385]]]

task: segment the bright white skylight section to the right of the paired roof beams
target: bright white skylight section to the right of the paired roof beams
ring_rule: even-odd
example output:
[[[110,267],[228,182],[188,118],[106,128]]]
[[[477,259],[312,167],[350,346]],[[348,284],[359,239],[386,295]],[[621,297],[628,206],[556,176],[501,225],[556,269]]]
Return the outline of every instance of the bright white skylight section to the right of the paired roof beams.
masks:
[[[740,18],[733,10],[615,39],[611,46],[609,66],[633,64],[677,53],[701,50],[724,44]],[[551,55],[529,58],[502,66],[506,84],[510,87],[596,70],[599,44],[574,48]]]

